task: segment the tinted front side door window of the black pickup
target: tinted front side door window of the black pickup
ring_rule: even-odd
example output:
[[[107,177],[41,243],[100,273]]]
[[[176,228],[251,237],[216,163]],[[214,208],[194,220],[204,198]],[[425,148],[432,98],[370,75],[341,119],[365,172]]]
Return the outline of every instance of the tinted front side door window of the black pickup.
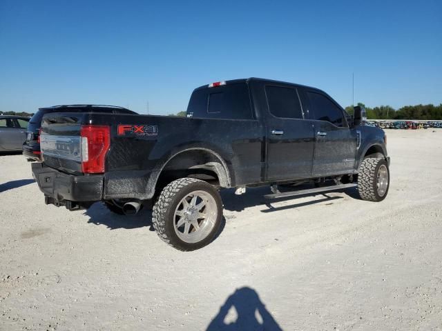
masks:
[[[341,128],[347,127],[343,111],[340,110],[332,100],[325,97],[323,94],[315,92],[307,92],[307,95],[309,96],[311,106],[314,109],[313,119],[328,121]]]

